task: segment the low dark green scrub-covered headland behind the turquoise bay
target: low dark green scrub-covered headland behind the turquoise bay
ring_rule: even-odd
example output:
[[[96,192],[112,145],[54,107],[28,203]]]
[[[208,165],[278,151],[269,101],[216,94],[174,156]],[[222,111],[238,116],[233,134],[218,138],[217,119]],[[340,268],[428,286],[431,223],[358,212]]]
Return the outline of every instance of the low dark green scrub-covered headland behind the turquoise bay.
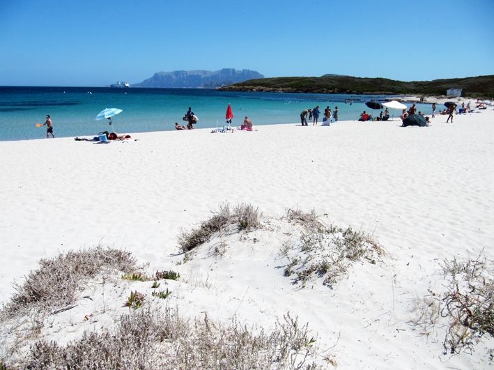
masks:
[[[250,79],[249,81],[224,86],[220,89],[226,91],[279,91],[284,93],[446,95],[448,88],[463,89],[462,96],[492,98],[494,96],[494,75],[412,82],[340,75],[275,77]]]

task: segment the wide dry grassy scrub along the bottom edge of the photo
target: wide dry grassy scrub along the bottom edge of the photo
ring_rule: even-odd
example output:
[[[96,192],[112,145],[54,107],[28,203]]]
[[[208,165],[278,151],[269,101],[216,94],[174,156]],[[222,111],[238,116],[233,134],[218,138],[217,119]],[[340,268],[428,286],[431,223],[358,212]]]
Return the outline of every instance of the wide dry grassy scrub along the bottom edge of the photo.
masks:
[[[265,332],[233,319],[193,321],[176,310],[139,309],[113,329],[84,332],[60,346],[38,341],[24,358],[28,369],[322,369],[322,353],[307,325],[290,314]],[[327,362],[326,362],[327,363]]]

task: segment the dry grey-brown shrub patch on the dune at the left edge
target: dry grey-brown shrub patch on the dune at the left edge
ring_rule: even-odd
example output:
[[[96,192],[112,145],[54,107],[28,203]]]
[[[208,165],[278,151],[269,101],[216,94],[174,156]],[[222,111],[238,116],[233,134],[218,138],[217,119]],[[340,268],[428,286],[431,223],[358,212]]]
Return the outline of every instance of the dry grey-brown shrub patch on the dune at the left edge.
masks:
[[[29,272],[23,284],[14,284],[15,293],[3,307],[4,314],[16,314],[34,306],[49,311],[70,305],[84,279],[95,277],[105,269],[123,272],[137,269],[130,252],[104,247],[59,254],[41,259],[39,264],[38,270]]]

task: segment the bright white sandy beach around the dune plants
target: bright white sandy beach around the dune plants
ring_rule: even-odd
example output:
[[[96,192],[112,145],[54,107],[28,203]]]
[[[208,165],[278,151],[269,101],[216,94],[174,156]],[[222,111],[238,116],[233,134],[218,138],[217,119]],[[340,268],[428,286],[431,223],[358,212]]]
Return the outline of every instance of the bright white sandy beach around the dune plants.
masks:
[[[483,248],[494,258],[493,108],[446,118],[429,128],[340,121],[149,132],[110,144],[0,141],[0,302],[40,259],[100,244],[127,249],[150,271],[179,271],[169,299],[187,315],[269,326],[297,314],[339,369],[488,369],[492,339],[472,355],[444,356],[440,335],[409,324],[415,300],[441,286],[439,261]],[[249,240],[262,242],[238,254],[199,250],[177,265],[180,229],[226,201],[258,207],[275,231],[254,231]],[[288,208],[369,233],[387,257],[356,265],[333,289],[293,286],[276,268],[288,232],[276,225]],[[116,311],[127,310],[122,301]],[[71,320],[82,323],[84,309]],[[68,341],[80,328],[91,326],[45,335]]]

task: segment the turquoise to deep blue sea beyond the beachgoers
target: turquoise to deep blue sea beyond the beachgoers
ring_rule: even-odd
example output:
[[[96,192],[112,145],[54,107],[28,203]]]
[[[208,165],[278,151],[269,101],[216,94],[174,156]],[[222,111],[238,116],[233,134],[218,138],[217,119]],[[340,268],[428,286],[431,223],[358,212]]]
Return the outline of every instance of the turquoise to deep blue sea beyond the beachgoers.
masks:
[[[95,136],[111,131],[107,120],[95,116],[105,108],[123,109],[113,118],[118,133],[174,130],[188,107],[199,116],[196,128],[224,125],[226,107],[233,108],[233,125],[245,116],[254,125],[300,123],[300,112],[320,106],[339,107],[339,120],[356,120],[369,100],[384,100],[384,95],[301,94],[230,92],[203,88],[100,88],[100,87],[0,87],[0,140],[41,139],[45,116],[52,117],[56,137]],[[345,103],[353,100],[353,104]],[[430,114],[430,105],[418,110]],[[375,114],[379,114],[378,111]],[[399,116],[398,111],[392,111]],[[322,121],[322,115],[320,116]]]

